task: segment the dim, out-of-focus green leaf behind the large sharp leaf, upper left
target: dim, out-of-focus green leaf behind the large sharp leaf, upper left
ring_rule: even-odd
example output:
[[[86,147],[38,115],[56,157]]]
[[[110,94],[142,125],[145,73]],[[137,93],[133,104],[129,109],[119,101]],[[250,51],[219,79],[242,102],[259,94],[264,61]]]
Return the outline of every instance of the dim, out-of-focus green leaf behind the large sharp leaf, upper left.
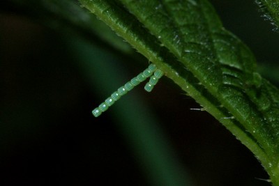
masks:
[[[106,47],[117,49],[118,52],[133,53],[126,42],[122,42],[122,39],[95,15],[84,11],[75,0],[10,0],[1,8],[5,9],[5,6],[15,7],[17,13],[28,15],[56,31],[75,31],[87,40],[110,42]]]

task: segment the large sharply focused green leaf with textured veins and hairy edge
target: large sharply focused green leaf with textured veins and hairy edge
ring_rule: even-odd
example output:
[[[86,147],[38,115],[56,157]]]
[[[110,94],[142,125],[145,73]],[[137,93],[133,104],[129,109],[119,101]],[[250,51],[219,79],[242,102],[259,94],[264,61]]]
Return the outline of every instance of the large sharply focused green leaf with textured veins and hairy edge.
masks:
[[[208,1],[80,2],[223,123],[279,185],[278,89]]]

